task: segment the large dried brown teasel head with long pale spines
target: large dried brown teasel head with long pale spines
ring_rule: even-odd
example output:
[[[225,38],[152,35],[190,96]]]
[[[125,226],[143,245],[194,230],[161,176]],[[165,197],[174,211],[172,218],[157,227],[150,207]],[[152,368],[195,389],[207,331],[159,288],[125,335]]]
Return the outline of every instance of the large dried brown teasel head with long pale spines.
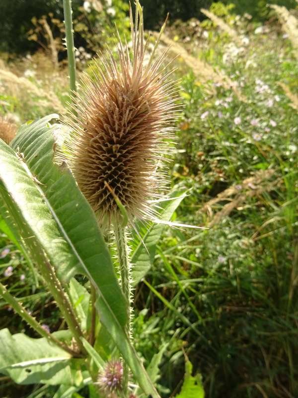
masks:
[[[85,76],[76,96],[77,115],[68,121],[73,132],[65,142],[80,190],[99,222],[108,225],[122,217],[115,195],[130,220],[150,218],[148,199],[158,198],[165,186],[156,165],[171,151],[171,123],[177,116],[177,87],[168,81],[172,71],[163,66],[166,51],[155,59],[165,24],[148,57],[139,1],[135,28],[132,9],[130,15],[132,50],[119,39],[116,59],[108,51],[102,63],[95,62],[93,76]]]

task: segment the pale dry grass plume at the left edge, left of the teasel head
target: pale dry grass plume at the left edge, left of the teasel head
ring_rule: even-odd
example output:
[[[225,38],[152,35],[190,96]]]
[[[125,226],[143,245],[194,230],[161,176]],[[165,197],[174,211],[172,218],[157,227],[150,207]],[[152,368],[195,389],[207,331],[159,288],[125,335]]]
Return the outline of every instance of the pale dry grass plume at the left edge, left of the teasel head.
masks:
[[[7,70],[0,70],[0,81],[7,82],[10,87],[11,92],[15,97],[18,96],[20,88],[26,89],[27,92],[33,94],[36,97],[42,98],[45,97],[48,101],[44,101],[39,103],[37,101],[37,105],[47,106],[55,109],[56,112],[60,114],[65,113],[65,108],[61,104],[60,100],[53,92],[46,92],[44,90],[38,89],[30,80],[24,77],[18,77],[14,73],[9,72]]]

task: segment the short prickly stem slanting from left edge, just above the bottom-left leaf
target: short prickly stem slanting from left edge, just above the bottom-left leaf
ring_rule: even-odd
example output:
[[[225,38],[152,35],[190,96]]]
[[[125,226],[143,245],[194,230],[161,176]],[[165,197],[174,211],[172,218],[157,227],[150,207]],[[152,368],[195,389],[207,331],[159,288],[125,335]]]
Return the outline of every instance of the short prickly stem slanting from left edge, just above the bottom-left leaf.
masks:
[[[28,323],[29,326],[31,326],[37,333],[39,333],[42,337],[45,337],[46,339],[50,340],[52,343],[54,343],[56,346],[62,348],[64,351],[68,352],[71,354],[73,357],[80,356],[78,355],[77,352],[72,350],[69,346],[64,344],[62,341],[58,340],[53,334],[47,332],[37,320],[29,314],[29,312],[26,310],[23,305],[18,302],[16,298],[14,298],[8,290],[5,288],[0,283],[0,295],[4,298],[4,300],[15,310],[17,314],[19,314],[24,321]]]

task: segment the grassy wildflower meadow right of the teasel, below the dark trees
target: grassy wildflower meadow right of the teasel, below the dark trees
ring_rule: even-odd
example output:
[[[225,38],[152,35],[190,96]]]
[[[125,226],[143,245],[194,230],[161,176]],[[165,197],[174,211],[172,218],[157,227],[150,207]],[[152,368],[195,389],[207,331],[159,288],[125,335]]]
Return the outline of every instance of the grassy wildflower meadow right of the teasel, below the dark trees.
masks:
[[[175,216],[210,229],[163,234],[137,291],[139,333],[149,333],[148,351],[168,344],[168,391],[183,372],[183,346],[210,397],[296,397],[295,48],[282,25],[221,18],[242,45],[218,23],[203,22],[194,37],[179,26],[168,33],[172,51],[184,47],[175,65],[185,72],[171,174],[192,189]]]

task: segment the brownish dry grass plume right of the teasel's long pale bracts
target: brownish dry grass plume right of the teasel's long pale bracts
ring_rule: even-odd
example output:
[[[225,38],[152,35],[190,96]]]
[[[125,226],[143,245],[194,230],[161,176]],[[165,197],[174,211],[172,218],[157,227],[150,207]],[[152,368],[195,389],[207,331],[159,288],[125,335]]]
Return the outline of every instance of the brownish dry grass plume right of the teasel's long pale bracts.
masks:
[[[210,218],[212,218],[211,221],[207,223],[207,227],[211,228],[218,224],[220,220],[229,215],[234,208],[239,208],[240,204],[245,202],[247,197],[253,198],[261,195],[265,191],[271,191],[272,187],[279,183],[278,180],[273,182],[271,181],[270,183],[268,181],[273,176],[274,172],[275,170],[265,170],[243,180],[240,185],[242,186],[242,189],[247,190],[245,191],[245,195],[232,186],[221,192],[216,198],[206,202],[198,212],[207,212]],[[255,188],[251,189],[251,186],[255,186]],[[231,199],[230,197],[233,195],[234,198]],[[212,207],[214,204],[227,200],[229,203],[226,203],[224,207],[213,216]]]

